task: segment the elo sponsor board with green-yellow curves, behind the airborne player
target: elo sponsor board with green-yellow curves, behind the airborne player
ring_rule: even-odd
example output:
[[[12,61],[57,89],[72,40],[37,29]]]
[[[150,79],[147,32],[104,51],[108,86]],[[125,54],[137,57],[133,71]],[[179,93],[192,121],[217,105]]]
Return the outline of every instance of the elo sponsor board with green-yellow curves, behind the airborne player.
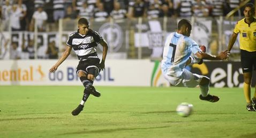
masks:
[[[160,62],[156,61],[152,73],[150,86],[170,86],[164,80]],[[210,86],[216,88],[222,87],[243,87],[244,79],[240,62],[204,62],[203,64],[194,64],[187,66],[192,73],[205,75],[210,78]],[[256,78],[252,79],[252,86],[255,86]]]

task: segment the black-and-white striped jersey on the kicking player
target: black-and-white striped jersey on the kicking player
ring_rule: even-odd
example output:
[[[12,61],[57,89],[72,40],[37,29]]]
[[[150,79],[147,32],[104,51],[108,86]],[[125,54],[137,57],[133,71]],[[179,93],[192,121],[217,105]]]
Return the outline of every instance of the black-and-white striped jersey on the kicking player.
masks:
[[[89,58],[99,58],[96,47],[101,41],[103,41],[101,35],[92,29],[89,29],[86,35],[79,34],[77,30],[70,34],[66,44],[73,48],[79,60],[86,60]]]

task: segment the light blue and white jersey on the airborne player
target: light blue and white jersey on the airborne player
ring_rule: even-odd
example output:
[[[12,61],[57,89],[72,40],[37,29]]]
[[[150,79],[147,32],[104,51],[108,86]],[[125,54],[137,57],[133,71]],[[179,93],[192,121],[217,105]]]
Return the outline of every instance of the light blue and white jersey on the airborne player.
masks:
[[[176,32],[167,36],[163,49],[162,71],[165,74],[182,75],[191,53],[200,51],[199,45],[190,37]]]

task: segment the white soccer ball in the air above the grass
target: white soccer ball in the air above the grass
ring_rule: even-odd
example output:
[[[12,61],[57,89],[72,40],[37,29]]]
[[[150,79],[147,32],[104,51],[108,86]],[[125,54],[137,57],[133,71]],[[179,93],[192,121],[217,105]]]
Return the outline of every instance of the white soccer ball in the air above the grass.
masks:
[[[177,106],[176,112],[179,116],[188,117],[193,112],[193,105],[190,103],[181,103]]]

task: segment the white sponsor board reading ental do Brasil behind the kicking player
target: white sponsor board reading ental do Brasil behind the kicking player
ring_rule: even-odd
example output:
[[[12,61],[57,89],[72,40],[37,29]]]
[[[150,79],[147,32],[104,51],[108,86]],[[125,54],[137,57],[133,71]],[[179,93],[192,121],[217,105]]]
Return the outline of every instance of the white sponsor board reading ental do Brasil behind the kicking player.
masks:
[[[77,85],[78,60],[66,60],[49,73],[57,60],[0,61],[0,85]],[[150,86],[154,63],[150,60],[106,60],[106,69],[95,79],[95,86]]]

